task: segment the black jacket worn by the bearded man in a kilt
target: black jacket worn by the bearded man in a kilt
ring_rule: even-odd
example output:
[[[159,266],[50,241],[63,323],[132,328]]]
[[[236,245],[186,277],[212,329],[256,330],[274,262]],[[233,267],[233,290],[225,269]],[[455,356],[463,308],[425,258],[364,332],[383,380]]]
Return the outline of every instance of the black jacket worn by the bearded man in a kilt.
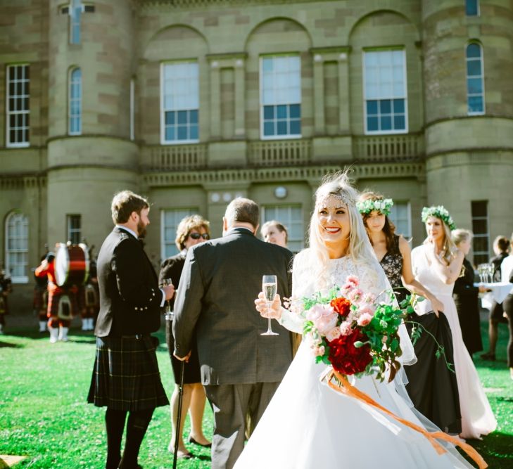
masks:
[[[103,241],[97,269],[100,312],[95,335],[119,337],[158,330],[163,293],[139,240],[116,226]]]

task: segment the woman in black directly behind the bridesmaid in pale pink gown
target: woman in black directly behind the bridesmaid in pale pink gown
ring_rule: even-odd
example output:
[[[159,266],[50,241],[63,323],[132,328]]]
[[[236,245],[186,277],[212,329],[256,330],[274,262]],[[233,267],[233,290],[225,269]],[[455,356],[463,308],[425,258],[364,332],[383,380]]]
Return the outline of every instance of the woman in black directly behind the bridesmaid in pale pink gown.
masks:
[[[471,248],[472,233],[463,229],[454,230],[452,231],[452,241],[467,256]],[[478,295],[479,292],[485,291],[486,288],[483,286],[474,287],[474,267],[465,257],[463,259],[463,275],[455,281],[452,298],[454,298],[458,311],[463,342],[470,356],[483,349]]]

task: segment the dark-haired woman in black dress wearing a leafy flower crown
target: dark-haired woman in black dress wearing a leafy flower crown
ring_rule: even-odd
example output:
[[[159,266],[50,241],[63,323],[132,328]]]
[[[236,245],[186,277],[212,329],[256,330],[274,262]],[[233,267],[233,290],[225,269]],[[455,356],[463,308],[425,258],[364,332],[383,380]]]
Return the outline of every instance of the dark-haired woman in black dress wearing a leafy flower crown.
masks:
[[[403,301],[410,292],[431,302],[432,314],[412,314],[410,320],[421,323],[423,328],[434,335],[444,347],[448,361],[453,363],[452,336],[443,314],[443,303],[415,280],[410,245],[403,236],[395,234],[395,226],[388,219],[392,206],[392,199],[384,199],[383,195],[369,191],[360,195],[358,203],[372,248],[398,302]],[[406,326],[411,333],[411,324],[407,323]],[[417,342],[414,342],[414,349],[417,363],[406,366],[405,372],[409,380],[406,389],[415,409],[445,432],[459,434],[460,396],[455,374],[448,370],[443,359],[436,358],[436,342],[431,335],[423,331]]]

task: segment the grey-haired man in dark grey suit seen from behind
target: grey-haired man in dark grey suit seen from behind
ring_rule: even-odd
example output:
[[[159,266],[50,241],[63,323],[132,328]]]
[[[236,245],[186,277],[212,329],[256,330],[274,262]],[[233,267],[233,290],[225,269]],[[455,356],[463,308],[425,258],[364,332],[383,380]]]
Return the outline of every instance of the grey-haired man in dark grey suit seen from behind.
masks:
[[[260,335],[267,319],[255,310],[262,275],[277,276],[291,296],[292,254],[255,238],[258,205],[237,198],[223,217],[223,236],[189,249],[175,300],[175,356],[185,359],[196,332],[201,380],[214,411],[212,468],[230,469],[244,446],[246,418],[258,423],[289,367],[291,335]]]

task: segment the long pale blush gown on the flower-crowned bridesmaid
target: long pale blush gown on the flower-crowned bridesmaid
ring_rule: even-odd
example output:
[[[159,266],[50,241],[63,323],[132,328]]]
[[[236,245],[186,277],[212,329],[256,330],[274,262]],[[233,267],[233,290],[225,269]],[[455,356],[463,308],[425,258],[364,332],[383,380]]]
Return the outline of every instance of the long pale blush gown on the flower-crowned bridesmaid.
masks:
[[[454,283],[447,285],[433,274],[426,257],[425,245],[412,250],[412,269],[417,281],[443,302],[443,314],[447,317],[452,334],[454,366],[462,414],[462,437],[481,438],[481,435],[488,435],[497,427],[497,420],[486,398],[474,362],[463,342],[456,304],[452,299]],[[429,311],[432,311],[429,301],[426,300],[417,305],[417,314],[426,314]]]

